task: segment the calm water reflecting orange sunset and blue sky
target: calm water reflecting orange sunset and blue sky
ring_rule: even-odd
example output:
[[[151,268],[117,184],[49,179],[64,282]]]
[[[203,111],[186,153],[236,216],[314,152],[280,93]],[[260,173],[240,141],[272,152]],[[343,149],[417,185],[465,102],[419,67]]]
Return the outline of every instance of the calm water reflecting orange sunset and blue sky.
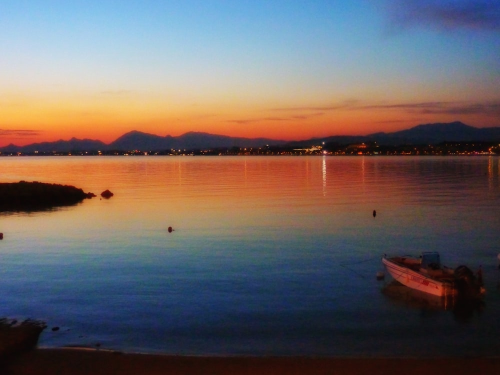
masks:
[[[500,355],[497,157],[0,157],[21,179],[114,192],[0,215],[0,316],[44,319],[41,346]],[[421,250],[481,264],[484,304],[375,279]]]

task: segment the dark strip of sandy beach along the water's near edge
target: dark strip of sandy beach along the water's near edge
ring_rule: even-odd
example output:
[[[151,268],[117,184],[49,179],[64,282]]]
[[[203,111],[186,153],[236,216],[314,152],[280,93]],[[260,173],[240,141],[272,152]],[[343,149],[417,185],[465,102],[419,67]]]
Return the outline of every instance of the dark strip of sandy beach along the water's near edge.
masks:
[[[36,349],[10,358],[2,375],[498,375],[498,358],[214,357],[129,354],[106,350]]]

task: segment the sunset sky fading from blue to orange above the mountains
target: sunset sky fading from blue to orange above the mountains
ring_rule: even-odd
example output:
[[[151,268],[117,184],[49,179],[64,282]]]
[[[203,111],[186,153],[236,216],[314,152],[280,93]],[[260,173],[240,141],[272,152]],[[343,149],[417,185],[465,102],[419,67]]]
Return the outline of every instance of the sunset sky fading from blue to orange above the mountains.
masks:
[[[500,126],[498,0],[2,0],[0,146]]]

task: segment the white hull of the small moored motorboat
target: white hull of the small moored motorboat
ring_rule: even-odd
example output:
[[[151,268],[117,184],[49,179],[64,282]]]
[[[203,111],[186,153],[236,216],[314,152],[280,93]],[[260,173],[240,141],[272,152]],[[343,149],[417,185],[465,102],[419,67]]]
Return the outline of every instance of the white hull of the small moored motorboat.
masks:
[[[416,272],[408,267],[391,261],[390,258],[382,257],[382,263],[385,269],[387,269],[387,272],[389,272],[396,281],[412,289],[437,296],[455,295],[457,293],[456,289],[453,287],[453,282],[450,280],[438,280],[431,276]]]

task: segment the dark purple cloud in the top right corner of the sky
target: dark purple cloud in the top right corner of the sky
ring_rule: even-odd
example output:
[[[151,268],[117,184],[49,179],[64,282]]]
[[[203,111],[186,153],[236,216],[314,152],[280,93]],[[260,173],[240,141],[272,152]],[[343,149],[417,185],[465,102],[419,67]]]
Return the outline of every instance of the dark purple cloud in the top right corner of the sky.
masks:
[[[391,28],[500,30],[496,0],[387,0]]]

